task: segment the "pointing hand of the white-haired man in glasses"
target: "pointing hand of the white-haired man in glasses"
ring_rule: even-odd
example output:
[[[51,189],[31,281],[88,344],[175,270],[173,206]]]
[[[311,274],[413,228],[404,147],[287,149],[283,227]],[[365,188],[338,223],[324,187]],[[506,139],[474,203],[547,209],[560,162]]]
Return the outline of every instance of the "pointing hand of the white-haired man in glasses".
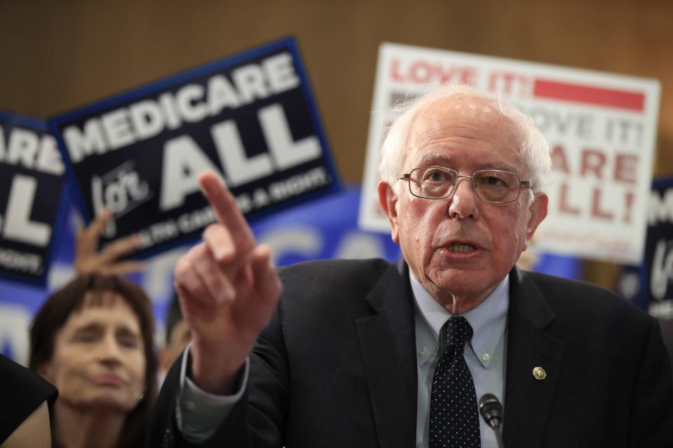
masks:
[[[213,172],[199,176],[217,223],[175,266],[175,289],[192,330],[193,380],[210,393],[231,392],[283,290],[271,249],[254,241],[236,200]]]

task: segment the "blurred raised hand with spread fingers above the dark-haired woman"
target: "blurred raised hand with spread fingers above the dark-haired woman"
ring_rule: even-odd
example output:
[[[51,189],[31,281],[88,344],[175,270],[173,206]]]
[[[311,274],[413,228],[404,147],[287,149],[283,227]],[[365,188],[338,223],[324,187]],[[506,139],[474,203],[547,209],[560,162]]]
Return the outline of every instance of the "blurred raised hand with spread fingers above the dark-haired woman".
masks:
[[[122,260],[118,258],[128,255],[140,246],[140,237],[131,235],[117,239],[105,246],[102,251],[98,251],[98,241],[102,235],[103,229],[112,218],[109,209],[105,209],[102,214],[96,218],[86,228],[81,228],[77,232],[75,240],[75,269],[77,274],[90,274],[99,272],[100,274],[128,274],[130,272],[140,272],[145,268],[145,263],[137,260]]]

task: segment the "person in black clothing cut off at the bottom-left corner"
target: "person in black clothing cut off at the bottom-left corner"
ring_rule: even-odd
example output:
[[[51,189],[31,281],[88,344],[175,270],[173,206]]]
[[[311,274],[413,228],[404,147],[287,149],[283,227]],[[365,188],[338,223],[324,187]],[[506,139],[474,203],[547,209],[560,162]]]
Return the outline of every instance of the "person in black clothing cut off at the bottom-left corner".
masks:
[[[0,354],[0,447],[50,448],[57,395],[39,374]]]

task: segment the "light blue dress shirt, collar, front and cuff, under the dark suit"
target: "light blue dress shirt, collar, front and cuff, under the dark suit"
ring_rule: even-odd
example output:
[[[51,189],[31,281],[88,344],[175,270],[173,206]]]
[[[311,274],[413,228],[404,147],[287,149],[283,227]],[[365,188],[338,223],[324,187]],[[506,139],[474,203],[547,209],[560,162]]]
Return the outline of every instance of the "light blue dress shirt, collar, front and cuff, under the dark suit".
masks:
[[[430,434],[430,391],[439,357],[439,334],[451,314],[416,281],[409,272],[416,302],[414,317],[416,358],[418,360],[418,408],[416,409],[416,447],[428,448]],[[508,276],[474,309],[463,314],[473,328],[472,340],[465,344],[465,361],[472,373],[477,401],[484,393],[493,393],[504,405],[505,323],[509,304]],[[240,389],[234,395],[212,395],[201,390],[186,372],[189,346],[182,357],[180,388],[176,406],[177,426],[191,442],[203,442],[215,433],[243,395],[250,373],[250,360]],[[493,430],[480,417],[482,448],[496,448]]]

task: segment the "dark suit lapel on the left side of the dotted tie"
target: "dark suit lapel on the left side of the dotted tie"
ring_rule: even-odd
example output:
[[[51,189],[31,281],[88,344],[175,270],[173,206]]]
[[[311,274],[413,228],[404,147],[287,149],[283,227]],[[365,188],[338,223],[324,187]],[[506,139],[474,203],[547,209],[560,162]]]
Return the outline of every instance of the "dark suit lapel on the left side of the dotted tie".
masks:
[[[379,447],[416,444],[416,338],[407,267],[392,265],[367,296],[375,314],[355,321]]]

